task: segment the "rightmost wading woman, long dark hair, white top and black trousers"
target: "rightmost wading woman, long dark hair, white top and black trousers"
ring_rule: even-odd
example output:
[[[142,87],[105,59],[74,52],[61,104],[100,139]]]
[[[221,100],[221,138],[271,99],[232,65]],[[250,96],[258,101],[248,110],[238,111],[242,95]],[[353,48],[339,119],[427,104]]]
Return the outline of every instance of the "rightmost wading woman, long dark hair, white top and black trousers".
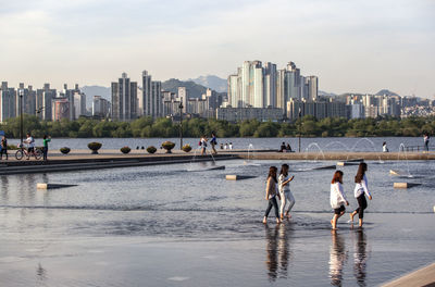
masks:
[[[365,195],[369,197],[370,200],[372,200],[372,195],[370,195],[368,188],[365,172],[366,172],[366,163],[361,162],[360,165],[358,166],[357,176],[355,177],[355,183],[356,183],[355,198],[358,201],[358,209],[356,209],[356,211],[350,213],[350,220],[352,223],[353,223],[353,216],[357,215],[358,213],[360,219],[360,224],[359,224],[360,227],[362,226],[362,220],[364,217],[364,209],[366,209],[368,207]]]

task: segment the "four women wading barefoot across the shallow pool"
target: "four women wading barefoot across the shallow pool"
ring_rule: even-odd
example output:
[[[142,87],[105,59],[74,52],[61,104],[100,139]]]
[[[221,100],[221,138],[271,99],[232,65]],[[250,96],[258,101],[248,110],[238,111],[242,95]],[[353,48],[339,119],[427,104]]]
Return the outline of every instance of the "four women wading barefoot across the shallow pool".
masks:
[[[365,162],[361,162],[358,166],[357,175],[355,176],[355,190],[353,195],[358,202],[358,208],[350,213],[350,221],[353,224],[353,217],[358,214],[359,226],[362,227],[364,210],[368,208],[368,202],[365,196],[372,200],[372,195],[369,191],[368,179],[365,172],[368,171],[368,165]],[[269,175],[265,188],[265,200],[268,200],[268,208],[264,213],[263,223],[268,222],[269,213],[272,208],[275,211],[276,223],[281,223],[285,217],[290,219],[289,212],[295,205],[295,197],[293,196],[289,187],[289,183],[295,178],[295,176],[289,176],[288,164],[283,164],[281,167],[279,176],[277,177],[276,166],[271,166],[269,169]],[[333,179],[331,182],[331,196],[330,203],[334,210],[334,216],[331,220],[331,225],[333,229],[337,229],[337,221],[341,217],[345,212],[345,205],[349,205],[349,201],[343,189],[343,175],[341,171],[336,171],[334,173]],[[277,199],[281,201],[281,208],[278,209]]]

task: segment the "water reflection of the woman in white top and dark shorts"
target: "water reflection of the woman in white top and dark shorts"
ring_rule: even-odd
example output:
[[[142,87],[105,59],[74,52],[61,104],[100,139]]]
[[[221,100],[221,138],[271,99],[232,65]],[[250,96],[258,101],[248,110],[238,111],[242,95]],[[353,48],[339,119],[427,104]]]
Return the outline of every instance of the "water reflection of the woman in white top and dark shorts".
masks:
[[[332,232],[330,248],[330,278],[333,286],[341,286],[343,267],[346,263],[347,252],[343,236],[336,230]]]

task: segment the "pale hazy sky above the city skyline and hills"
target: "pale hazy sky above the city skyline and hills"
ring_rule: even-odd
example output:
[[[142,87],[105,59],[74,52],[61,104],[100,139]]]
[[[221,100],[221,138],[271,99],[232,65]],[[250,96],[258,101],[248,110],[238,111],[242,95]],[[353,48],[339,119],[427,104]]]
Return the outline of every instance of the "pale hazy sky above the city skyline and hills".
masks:
[[[321,90],[435,99],[434,0],[0,0],[0,80],[109,87],[293,61]]]

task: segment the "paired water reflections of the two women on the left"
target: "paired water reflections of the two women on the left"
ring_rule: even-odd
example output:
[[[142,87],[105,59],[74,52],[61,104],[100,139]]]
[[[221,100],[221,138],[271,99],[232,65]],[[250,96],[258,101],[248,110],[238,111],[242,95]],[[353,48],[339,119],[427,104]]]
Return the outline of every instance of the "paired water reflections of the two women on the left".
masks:
[[[288,239],[291,230],[285,224],[274,227],[265,225],[266,267],[269,279],[287,278],[290,249]]]

